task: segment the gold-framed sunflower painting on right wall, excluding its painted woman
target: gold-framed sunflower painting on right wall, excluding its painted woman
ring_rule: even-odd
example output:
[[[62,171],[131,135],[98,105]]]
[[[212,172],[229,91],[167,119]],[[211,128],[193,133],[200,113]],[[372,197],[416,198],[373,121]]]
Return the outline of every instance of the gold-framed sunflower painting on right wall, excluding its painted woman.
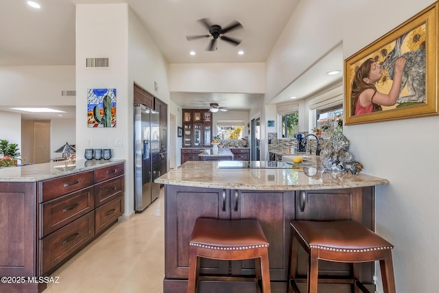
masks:
[[[430,5],[374,43],[344,60],[344,121],[364,124],[438,115],[438,2]],[[392,86],[394,60],[406,59],[401,92],[394,106],[355,115],[352,98],[357,69],[372,58],[381,65],[383,76],[377,91],[388,94]]]

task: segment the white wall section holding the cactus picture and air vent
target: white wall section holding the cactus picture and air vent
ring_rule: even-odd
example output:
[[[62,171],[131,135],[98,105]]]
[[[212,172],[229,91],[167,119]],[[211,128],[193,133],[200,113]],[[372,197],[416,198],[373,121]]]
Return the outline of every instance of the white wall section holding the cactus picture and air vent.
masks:
[[[96,17],[96,16],[103,17]],[[86,58],[110,58],[108,69],[85,69]],[[126,159],[124,214],[132,205],[132,99],[128,85],[128,5],[76,5],[76,155],[86,148],[110,148],[115,159]],[[87,90],[116,89],[116,127],[87,127]],[[108,141],[108,145],[106,145]],[[121,142],[118,144],[117,141]]]

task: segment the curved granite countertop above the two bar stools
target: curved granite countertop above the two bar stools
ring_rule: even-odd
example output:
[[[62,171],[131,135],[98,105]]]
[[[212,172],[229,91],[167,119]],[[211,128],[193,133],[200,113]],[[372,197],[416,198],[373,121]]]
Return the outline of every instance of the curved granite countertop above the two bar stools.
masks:
[[[317,159],[318,160],[318,159]],[[235,161],[239,162],[239,161]],[[220,164],[220,165],[219,165]],[[294,168],[222,168],[221,161],[188,161],[157,178],[169,185],[248,190],[317,190],[386,185],[384,178],[325,171],[320,162]]]

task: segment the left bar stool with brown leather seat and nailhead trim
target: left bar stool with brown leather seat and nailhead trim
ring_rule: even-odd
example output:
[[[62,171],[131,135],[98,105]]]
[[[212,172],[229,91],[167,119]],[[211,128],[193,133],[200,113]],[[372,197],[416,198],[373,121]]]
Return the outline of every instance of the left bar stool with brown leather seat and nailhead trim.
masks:
[[[222,260],[254,259],[256,279],[262,281],[262,292],[270,293],[270,271],[268,267],[268,241],[259,221],[246,220],[220,220],[198,218],[193,226],[191,239],[189,239],[189,280],[187,292],[194,293],[198,290],[200,279],[200,257]],[[221,277],[202,275],[202,279],[217,280]],[[237,278],[227,275],[226,281]],[[245,277],[244,277],[245,279]]]

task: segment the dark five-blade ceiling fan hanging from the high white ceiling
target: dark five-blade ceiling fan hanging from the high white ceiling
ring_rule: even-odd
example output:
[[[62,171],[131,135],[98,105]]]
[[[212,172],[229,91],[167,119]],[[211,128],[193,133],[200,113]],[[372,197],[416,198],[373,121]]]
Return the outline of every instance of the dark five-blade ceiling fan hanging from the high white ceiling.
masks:
[[[197,38],[209,38],[213,37],[211,40],[211,43],[209,44],[209,47],[207,47],[207,51],[215,51],[217,49],[217,39],[221,38],[222,40],[225,40],[228,43],[231,43],[235,46],[239,45],[241,43],[241,40],[237,38],[232,38],[230,36],[224,36],[226,32],[230,32],[232,30],[237,30],[239,28],[243,28],[241,23],[239,21],[233,21],[233,23],[230,23],[230,25],[222,28],[220,25],[213,25],[209,19],[199,19],[200,23],[202,23],[207,30],[209,30],[209,34],[202,34],[202,35],[195,35],[195,36],[186,36],[187,40],[195,40]]]

